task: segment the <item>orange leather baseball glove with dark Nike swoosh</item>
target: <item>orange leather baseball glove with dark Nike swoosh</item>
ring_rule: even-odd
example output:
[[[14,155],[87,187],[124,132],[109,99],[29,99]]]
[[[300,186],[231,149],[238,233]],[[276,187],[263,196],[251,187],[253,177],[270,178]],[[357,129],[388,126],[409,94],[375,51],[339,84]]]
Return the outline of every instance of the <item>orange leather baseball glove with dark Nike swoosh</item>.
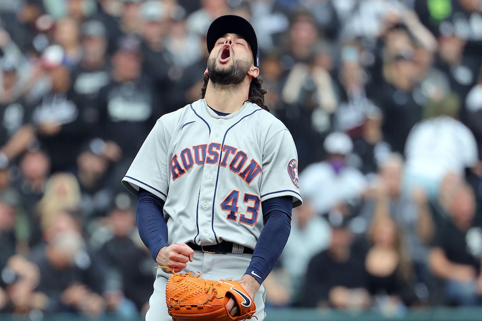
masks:
[[[254,301],[237,281],[205,280],[200,272],[197,276],[192,271],[172,272],[166,286],[166,304],[173,321],[239,321],[251,319],[256,312]],[[226,310],[230,298],[238,306],[236,316]]]

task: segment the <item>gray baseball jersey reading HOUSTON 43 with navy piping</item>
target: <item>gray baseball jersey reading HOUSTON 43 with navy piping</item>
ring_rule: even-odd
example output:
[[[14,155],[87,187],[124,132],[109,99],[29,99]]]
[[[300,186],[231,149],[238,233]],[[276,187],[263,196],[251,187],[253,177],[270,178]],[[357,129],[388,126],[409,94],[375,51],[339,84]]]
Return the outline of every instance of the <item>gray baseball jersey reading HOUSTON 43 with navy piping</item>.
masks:
[[[249,102],[228,116],[204,99],[163,115],[122,182],[165,201],[169,244],[225,240],[254,249],[262,201],[288,195],[301,203],[291,134]]]

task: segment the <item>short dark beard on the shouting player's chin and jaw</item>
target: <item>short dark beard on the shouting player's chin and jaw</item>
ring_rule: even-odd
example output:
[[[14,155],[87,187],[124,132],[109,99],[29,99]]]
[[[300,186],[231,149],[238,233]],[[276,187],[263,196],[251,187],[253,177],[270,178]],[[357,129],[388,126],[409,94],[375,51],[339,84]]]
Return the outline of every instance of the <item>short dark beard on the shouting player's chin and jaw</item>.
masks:
[[[218,57],[208,59],[209,80],[219,85],[236,85],[241,83],[246,77],[251,62],[245,60],[234,61],[228,68],[216,65]]]

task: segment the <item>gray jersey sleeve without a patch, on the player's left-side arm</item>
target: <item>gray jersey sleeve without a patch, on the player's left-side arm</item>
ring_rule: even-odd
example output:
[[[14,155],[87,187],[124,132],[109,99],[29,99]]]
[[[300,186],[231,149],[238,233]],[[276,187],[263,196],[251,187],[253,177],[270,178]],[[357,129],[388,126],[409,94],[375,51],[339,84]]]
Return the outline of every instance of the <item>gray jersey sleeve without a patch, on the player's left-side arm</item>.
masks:
[[[122,184],[134,195],[139,187],[166,200],[169,181],[168,148],[171,135],[157,121],[132,161]]]

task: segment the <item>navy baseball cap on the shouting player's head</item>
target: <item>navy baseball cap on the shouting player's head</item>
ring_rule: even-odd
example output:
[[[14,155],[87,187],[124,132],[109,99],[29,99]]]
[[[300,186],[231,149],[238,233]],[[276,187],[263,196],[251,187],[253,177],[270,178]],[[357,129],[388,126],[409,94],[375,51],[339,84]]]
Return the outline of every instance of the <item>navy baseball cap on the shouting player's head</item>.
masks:
[[[251,47],[254,66],[259,67],[259,48],[256,33],[254,32],[252,25],[239,15],[222,15],[211,23],[208,29],[208,34],[206,35],[208,52],[213,50],[216,41],[226,33],[239,34],[247,41]]]

